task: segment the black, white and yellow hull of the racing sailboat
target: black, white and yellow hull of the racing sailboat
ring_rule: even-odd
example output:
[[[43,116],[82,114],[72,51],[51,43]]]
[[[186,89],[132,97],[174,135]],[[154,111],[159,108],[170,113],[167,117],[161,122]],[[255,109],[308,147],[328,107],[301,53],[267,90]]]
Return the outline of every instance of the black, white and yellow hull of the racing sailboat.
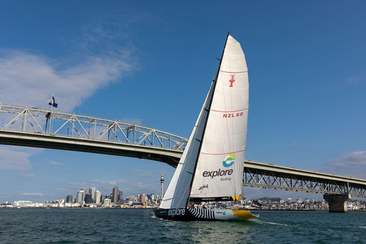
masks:
[[[164,220],[177,221],[243,221],[258,216],[244,209],[173,208],[156,209],[152,215]]]

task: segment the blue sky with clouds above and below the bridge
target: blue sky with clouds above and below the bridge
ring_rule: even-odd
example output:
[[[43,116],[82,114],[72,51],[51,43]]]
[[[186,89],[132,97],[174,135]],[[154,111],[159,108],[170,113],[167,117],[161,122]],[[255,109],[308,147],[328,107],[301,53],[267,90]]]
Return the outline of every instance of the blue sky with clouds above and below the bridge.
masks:
[[[246,158],[366,178],[364,1],[2,1],[0,102],[188,137],[226,34],[249,74]],[[1,122],[1,121],[0,121]],[[159,193],[159,162],[0,146],[0,202]],[[255,198],[303,195],[244,189]]]

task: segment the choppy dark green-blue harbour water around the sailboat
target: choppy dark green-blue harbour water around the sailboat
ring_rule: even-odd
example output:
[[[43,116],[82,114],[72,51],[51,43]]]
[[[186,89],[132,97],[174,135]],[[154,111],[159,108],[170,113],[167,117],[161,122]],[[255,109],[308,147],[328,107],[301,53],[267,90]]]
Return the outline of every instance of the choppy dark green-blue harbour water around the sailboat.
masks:
[[[258,211],[235,222],[176,222],[146,209],[0,209],[0,243],[366,243],[366,212]]]

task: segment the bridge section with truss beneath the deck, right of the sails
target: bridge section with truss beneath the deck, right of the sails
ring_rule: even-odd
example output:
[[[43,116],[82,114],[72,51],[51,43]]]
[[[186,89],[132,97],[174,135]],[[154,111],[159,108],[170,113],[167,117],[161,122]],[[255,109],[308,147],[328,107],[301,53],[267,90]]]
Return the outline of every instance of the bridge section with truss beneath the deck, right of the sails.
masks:
[[[366,179],[245,161],[243,186],[366,197]]]

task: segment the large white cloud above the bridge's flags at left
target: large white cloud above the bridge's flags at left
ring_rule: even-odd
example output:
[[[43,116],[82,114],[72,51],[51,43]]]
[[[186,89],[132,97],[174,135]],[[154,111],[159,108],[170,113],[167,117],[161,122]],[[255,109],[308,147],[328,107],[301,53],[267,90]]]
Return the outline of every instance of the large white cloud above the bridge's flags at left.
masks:
[[[0,50],[0,102],[45,108],[55,94],[59,110],[71,111],[97,89],[130,72],[131,65],[117,57],[89,56],[72,67],[59,68],[42,55]]]

